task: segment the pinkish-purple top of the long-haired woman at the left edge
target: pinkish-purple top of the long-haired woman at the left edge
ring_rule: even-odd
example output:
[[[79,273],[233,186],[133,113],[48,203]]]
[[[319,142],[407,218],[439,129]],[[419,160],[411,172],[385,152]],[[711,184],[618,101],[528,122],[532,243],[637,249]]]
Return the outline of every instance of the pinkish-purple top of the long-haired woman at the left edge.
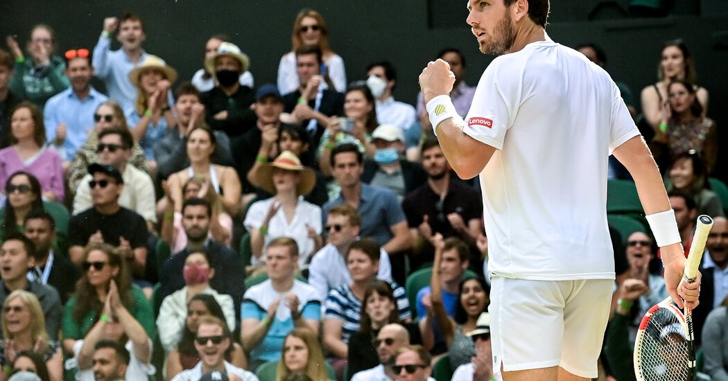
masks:
[[[0,150],[0,186],[3,190],[12,174],[17,171],[30,172],[41,183],[41,192],[52,192],[63,202],[63,167],[58,153],[49,148],[41,148],[35,161],[25,166],[15,146],[10,145]]]

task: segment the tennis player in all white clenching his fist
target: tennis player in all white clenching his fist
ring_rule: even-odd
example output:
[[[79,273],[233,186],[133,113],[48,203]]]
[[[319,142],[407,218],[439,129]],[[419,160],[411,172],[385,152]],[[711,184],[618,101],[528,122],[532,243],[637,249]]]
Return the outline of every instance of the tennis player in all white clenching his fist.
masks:
[[[463,120],[443,60],[419,76],[440,145],[462,178],[480,175],[488,235],[494,369],[504,380],[597,377],[614,280],[607,158],[634,177],[673,300],[697,306],[649,149],[609,75],[545,33],[548,0],[470,0],[480,51],[499,55]]]

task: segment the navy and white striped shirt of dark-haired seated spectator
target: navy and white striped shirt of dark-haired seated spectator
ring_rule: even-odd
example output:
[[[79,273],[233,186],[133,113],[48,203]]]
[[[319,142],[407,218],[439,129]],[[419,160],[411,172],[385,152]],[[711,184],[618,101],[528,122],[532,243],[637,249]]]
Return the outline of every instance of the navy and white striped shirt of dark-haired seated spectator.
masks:
[[[395,282],[392,282],[391,284],[392,290],[395,292],[400,320],[404,321],[412,318],[409,300],[407,300],[405,289]],[[349,337],[352,336],[352,333],[359,330],[362,301],[355,296],[354,292],[352,292],[352,289],[347,284],[328,292],[325,308],[325,318],[333,318],[344,322],[344,326],[341,329],[341,340],[344,340],[344,342],[349,344]]]

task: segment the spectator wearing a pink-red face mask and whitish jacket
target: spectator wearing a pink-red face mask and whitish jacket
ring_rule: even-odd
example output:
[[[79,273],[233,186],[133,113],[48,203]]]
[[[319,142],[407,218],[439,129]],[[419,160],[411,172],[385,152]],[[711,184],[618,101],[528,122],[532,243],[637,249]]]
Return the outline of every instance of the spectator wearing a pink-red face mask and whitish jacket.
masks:
[[[210,287],[215,277],[214,257],[204,249],[190,252],[185,260],[183,276],[186,286],[162,300],[157,315],[159,341],[168,353],[177,347],[187,317],[187,301],[197,294],[210,294],[223,310],[228,328],[235,329],[235,311],[232,297],[218,294]]]

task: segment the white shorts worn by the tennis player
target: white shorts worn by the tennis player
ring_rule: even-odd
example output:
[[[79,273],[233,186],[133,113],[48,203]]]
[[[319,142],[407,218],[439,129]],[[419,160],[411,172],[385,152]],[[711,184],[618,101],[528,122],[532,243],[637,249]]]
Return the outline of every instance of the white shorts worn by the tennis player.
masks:
[[[494,276],[491,287],[493,369],[561,366],[597,377],[612,302],[612,279],[531,281]]]

